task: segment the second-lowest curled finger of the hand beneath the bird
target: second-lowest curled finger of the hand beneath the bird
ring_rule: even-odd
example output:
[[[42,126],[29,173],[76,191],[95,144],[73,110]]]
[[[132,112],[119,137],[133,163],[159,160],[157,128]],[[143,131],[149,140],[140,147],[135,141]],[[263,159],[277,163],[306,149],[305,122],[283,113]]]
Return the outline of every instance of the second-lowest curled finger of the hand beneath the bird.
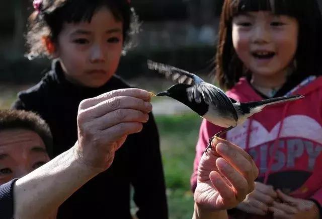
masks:
[[[248,181],[235,170],[226,160],[218,158],[216,160],[216,166],[220,173],[229,181],[231,186],[235,189],[235,195],[237,200],[243,201],[246,195],[251,192]],[[254,183],[254,182],[253,182]]]

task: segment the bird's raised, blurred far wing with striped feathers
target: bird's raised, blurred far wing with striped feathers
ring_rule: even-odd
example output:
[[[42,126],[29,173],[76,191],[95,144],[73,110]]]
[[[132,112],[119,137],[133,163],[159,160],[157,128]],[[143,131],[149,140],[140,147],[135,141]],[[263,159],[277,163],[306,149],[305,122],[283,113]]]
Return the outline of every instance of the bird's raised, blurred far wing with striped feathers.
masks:
[[[192,74],[189,71],[182,70],[180,68],[177,68],[171,65],[166,65],[155,61],[147,60],[147,66],[149,69],[158,71],[160,74],[165,75],[167,79],[171,79],[176,83],[198,85],[204,82],[201,78],[199,78],[195,74]]]

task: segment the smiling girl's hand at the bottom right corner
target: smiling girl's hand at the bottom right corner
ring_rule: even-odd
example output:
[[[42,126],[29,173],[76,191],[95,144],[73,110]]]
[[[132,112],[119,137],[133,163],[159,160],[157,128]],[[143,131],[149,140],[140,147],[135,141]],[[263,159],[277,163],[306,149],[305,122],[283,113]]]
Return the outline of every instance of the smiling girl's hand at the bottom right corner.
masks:
[[[319,209],[311,200],[294,198],[277,190],[280,202],[274,201],[269,210],[276,219],[318,219]]]

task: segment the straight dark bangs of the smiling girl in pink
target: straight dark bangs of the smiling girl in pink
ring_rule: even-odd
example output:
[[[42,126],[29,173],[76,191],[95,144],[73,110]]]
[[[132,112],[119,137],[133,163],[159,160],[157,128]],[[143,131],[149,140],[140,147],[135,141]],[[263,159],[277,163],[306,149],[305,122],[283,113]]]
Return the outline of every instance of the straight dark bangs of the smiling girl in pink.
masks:
[[[230,2],[230,16],[247,12],[270,11],[276,15],[301,16],[305,3],[301,0],[235,0]]]

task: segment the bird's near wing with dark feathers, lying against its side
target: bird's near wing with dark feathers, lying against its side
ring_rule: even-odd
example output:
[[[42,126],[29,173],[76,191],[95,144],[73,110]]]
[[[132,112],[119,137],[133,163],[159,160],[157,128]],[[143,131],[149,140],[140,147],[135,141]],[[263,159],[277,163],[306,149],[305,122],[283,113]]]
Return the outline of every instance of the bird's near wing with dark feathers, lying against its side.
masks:
[[[200,103],[204,99],[207,104],[215,105],[219,110],[229,110],[235,121],[238,120],[235,107],[220,88],[204,82],[188,88],[187,93],[190,101],[194,99],[197,103]]]

